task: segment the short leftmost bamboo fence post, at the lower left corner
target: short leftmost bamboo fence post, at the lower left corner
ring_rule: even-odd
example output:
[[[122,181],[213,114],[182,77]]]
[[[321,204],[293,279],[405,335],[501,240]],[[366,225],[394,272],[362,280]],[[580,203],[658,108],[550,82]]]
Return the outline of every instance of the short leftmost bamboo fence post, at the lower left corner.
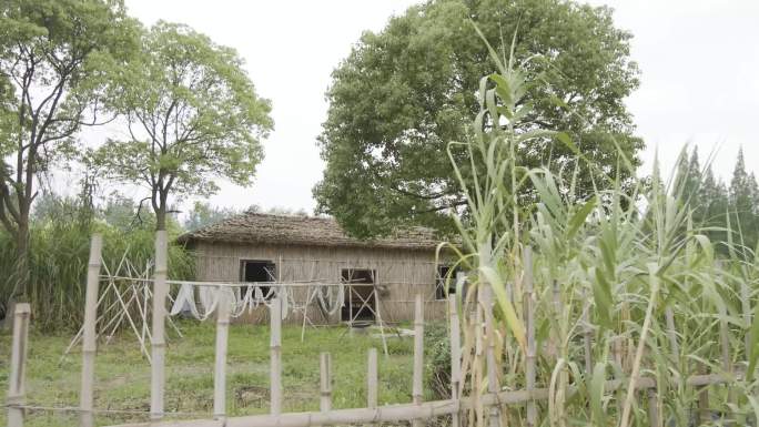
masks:
[[[11,343],[10,375],[8,376],[8,427],[23,427],[24,376],[27,368],[27,347],[29,338],[28,303],[17,303],[13,312],[13,340]]]

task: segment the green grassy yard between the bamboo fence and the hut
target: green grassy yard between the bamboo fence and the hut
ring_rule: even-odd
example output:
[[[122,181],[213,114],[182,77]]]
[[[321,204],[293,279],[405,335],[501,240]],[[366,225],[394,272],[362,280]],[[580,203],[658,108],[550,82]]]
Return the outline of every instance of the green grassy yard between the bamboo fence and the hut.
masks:
[[[166,398],[169,411],[211,414],[213,401],[214,326],[212,323],[181,324],[184,338],[173,335],[166,355]],[[382,342],[366,335],[345,334],[344,327],[306,331],[301,343],[300,327],[283,329],[284,410],[318,409],[318,354],[333,357],[333,407],[365,406],[366,352],[376,347],[380,357],[380,403],[411,401],[411,338],[389,338],[389,357],[382,357]],[[79,401],[81,354],[59,359],[71,334],[30,334],[27,396],[32,405],[75,406]],[[8,390],[10,336],[0,335],[0,398]],[[144,410],[150,408],[150,366],[141,356],[136,338],[129,333],[100,345],[95,362],[95,407],[99,409]],[[227,414],[263,414],[269,410],[269,328],[233,325],[227,354]],[[4,410],[0,426],[6,423]],[[75,426],[78,417],[36,413],[29,427]],[[99,425],[145,420],[138,415],[99,415]]]

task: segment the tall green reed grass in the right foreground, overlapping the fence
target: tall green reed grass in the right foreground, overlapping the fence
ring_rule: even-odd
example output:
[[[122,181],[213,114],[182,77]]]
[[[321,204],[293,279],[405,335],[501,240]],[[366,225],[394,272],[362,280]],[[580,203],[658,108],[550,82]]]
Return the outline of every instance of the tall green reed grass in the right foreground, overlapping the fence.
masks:
[[[525,81],[513,55],[490,54],[498,72],[480,82],[472,138],[448,149],[468,202],[464,218],[454,215],[463,250],[446,245],[473,272],[467,293],[457,294],[464,392],[477,397],[488,389],[492,348],[499,389],[546,387],[549,398],[499,414],[478,407],[469,425],[493,426],[497,417],[502,426],[649,426],[649,407],[659,426],[756,420],[759,261],[740,246],[735,224],[723,225],[731,256],[717,256],[707,230],[691,220],[699,201],[686,200],[678,180],[665,180],[658,165],[632,185],[607,176],[568,135],[528,122],[525,88],[540,83]],[[573,170],[518,163],[518,151],[547,139],[575,151]],[[456,150],[469,163],[454,161]],[[579,173],[594,176],[589,196],[578,195]],[[710,387],[708,411],[698,414],[705,395],[686,379],[735,369],[743,378]],[[658,385],[651,398],[635,390],[644,376]],[[605,390],[610,379],[624,387]]]

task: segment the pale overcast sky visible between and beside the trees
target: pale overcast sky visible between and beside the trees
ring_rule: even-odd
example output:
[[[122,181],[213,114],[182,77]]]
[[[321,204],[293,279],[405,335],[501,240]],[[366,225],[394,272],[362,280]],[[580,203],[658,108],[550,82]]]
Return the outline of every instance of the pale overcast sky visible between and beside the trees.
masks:
[[[223,184],[216,205],[315,206],[311,190],[324,163],[316,135],[326,116],[330,74],[365,30],[380,31],[411,0],[234,1],[126,0],[145,24],[182,22],[233,47],[247,62],[259,94],[273,102],[275,130],[255,184]],[[626,0],[609,4],[617,26],[631,31],[641,85],[628,102],[648,148],[669,170],[682,145],[704,159],[718,149],[715,171],[729,180],[742,145],[759,172],[759,1]],[[135,192],[132,194],[138,196]]]

